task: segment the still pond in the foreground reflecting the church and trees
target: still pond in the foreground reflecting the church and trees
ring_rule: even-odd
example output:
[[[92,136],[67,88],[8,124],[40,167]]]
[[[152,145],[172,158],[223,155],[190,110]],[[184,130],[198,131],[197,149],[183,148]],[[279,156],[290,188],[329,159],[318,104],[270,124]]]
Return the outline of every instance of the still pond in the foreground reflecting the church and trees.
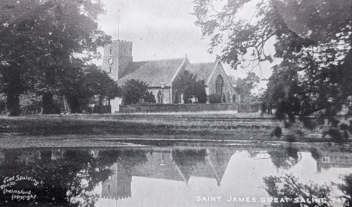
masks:
[[[263,207],[330,202],[342,206],[351,198],[351,174],[348,145],[174,143],[1,149],[0,203]]]

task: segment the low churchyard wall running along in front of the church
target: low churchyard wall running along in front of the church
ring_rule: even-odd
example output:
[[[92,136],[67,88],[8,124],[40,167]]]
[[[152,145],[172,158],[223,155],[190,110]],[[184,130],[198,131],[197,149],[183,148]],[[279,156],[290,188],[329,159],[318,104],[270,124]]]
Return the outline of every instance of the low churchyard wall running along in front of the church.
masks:
[[[252,105],[239,106],[241,104],[146,104],[146,105],[120,105],[120,113],[155,113],[155,112],[201,112],[201,111],[238,111],[243,113],[256,113]],[[250,110],[244,110],[248,108]]]

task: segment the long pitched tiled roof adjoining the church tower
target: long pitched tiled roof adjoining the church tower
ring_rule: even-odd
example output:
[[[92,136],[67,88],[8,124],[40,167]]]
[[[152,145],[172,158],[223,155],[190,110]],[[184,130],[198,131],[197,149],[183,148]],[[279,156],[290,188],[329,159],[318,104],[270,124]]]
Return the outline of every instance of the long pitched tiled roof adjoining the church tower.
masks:
[[[177,69],[187,60],[186,58],[143,61],[130,63],[117,81],[122,86],[126,81],[135,79],[144,81],[149,87],[160,87],[164,81],[166,86],[172,81]],[[188,62],[188,60],[187,60]]]

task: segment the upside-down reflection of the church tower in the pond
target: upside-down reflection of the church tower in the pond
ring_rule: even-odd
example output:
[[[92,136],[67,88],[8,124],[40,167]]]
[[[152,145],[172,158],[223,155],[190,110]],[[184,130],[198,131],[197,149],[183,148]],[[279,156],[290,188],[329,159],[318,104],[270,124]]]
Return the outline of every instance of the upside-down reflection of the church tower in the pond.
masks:
[[[123,199],[131,197],[132,176],[123,163],[117,160],[111,167],[112,175],[103,182],[102,198]]]

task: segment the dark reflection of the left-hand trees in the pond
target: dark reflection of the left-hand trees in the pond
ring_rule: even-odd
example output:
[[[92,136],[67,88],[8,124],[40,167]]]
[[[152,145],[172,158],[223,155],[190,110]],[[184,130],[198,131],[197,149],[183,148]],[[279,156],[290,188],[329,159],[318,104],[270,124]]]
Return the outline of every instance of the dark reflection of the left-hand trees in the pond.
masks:
[[[22,159],[29,156],[27,152],[6,151],[5,161],[0,166],[0,179],[7,176],[31,176],[40,183],[34,186],[31,182],[17,182],[13,189],[33,192],[38,199],[38,205],[52,206],[78,206],[71,204],[73,197],[80,196],[84,201],[80,206],[93,206],[93,195],[86,193],[92,191],[100,182],[108,179],[111,174],[108,166],[116,161],[119,153],[107,153],[94,158],[88,150],[64,150],[63,156],[52,160],[51,153],[46,151],[33,151],[30,161]],[[43,153],[41,153],[43,152]],[[23,154],[25,156],[23,156]],[[104,154],[104,153],[103,153]],[[85,183],[83,181],[86,181]],[[10,188],[8,188],[10,189]],[[11,194],[0,197],[1,206],[34,205],[32,201],[11,201]]]

